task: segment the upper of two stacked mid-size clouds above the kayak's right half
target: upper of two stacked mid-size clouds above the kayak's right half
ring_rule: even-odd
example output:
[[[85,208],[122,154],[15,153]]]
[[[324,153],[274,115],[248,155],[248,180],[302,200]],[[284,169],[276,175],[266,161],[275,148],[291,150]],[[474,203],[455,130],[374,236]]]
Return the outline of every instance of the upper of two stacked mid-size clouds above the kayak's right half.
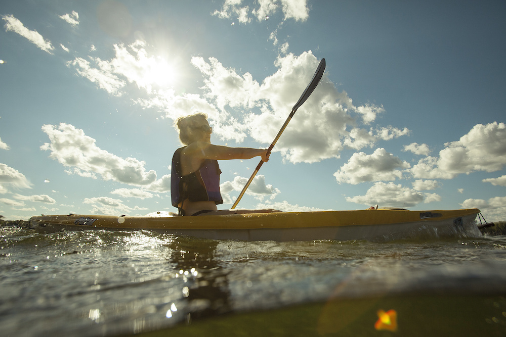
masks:
[[[402,171],[409,164],[400,160],[385,149],[376,149],[372,155],[355,153],[348,163],[334,173],[339,183],[358,184],[365,181],[395,180],[402,178]]]

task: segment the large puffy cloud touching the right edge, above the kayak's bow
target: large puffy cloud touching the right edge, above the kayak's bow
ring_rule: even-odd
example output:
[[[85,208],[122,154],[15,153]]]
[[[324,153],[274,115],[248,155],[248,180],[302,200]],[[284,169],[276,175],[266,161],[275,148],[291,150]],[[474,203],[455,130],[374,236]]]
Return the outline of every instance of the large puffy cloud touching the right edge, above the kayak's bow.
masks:
[[[494,172],[506,164],[506,125],[477,124],[458,141],[445,144],[439,157],[427,157],[414,165],[415,178],[451,179],[461,173]]]

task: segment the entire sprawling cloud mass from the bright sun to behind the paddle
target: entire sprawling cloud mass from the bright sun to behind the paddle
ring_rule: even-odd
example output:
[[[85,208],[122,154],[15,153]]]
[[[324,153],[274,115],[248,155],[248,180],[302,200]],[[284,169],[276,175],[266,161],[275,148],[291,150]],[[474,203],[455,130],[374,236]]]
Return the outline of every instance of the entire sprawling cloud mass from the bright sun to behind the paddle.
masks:
[[[249,72],[224,66],[216,58],[193,57],[191,64],[203,76],[202,93],[176,94],[167,83],[156,82],[160,69],[170,69],[170,65],[150,56],[145,47],[140,41],[119,44],[114,46],[111,60],[76,58],[67,65],[112,95],[124,94],[124,87],[135,83],[148,95],[133,102],[144,109],[158,109],[167,118],[204,112],[214,135],[223,141],[242,142],[249,136],[262,144],[271,142],[319,63],[311,51],[300,56],[280,55],[275,61],[277,71],[260,81]],[[360,150],[382,139],[409,134],[407,128],[391,125],[363,128],[383,112],[383,107],[372,104],[355,106],[324,74],[273,151],[292,163],[313,163],[339,158],[345,148]]]

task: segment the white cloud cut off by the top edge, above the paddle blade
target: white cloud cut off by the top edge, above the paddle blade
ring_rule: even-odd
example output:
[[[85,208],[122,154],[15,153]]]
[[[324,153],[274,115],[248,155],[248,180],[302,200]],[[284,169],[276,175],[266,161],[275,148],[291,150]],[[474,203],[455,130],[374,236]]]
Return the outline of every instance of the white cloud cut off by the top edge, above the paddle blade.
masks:
[[[249,14],[256,17],[258,21],[266,19],[266,16],[273,15],[281,9],[284,15],[283,20],[293,19],[295,21],[306,21],[309,17],[307,0],[259,0],[251,11],[249,6],[241,6],[241,0],[225,0],[221,10],[216,10],[213,15],[221,19],[237,19],[240,23],[249,23]]]

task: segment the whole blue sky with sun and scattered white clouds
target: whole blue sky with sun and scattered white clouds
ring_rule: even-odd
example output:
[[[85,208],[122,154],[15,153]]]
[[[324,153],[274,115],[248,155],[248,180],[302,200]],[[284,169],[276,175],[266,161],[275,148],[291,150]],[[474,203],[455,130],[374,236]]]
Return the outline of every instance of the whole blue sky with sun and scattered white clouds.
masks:
[[[506,219],[504,1],[2,1],[0,215],[174,211],[174,120],[267,148],[237,208]],[[260,158],[221,161],[230,208]]]

